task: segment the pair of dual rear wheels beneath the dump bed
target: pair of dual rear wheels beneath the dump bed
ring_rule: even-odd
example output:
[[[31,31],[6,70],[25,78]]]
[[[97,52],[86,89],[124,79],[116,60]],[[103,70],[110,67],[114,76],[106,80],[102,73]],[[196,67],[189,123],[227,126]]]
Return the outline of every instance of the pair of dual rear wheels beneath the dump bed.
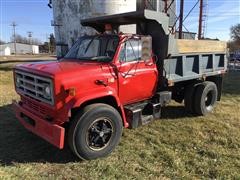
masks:
[[[213,111],[218,97],[218,89],[215,83],[205,81],[186,87],[185,108],[197,115],[207,115]]]

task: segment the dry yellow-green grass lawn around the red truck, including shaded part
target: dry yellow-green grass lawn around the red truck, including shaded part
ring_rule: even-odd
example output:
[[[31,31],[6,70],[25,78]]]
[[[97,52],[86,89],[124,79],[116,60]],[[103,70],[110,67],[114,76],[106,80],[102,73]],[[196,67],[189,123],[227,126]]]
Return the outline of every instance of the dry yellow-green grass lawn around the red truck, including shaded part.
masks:
[[[171,104],[161,120],[124,130],[107,158],[78,161],[26,131],[11,109],[16,63],[0,64],[0,177],[3,179],[240,179],[240,73],[224,80],[212,114]],[[0,179],[1,179],[0,178]]]

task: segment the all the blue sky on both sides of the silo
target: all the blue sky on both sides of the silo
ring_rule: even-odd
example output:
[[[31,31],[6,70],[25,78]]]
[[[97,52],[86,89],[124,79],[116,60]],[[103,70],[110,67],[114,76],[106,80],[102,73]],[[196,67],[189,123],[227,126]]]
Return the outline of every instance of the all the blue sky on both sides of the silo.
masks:
[[[185,0],[185,15],[196,2]],[[10,24],[15,21],[18,34],[27,36],[27,32],[32,31],[34,38],[45,41],[53,32],[52,10],[47,3],[48,0],[0,0],[0,39],[10,40]],[[240,23],[240,0],[208,0],[208,9],[206,37],[229,40],[230,27]],[[184,22],[189,31],[197,32],[198,11],[197,6]]]

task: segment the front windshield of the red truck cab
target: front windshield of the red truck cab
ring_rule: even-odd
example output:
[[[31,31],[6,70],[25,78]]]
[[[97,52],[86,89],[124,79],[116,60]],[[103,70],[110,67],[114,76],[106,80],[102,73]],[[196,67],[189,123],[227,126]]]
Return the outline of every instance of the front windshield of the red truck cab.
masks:
[[[112,61],[119,42],[118,36],[86,36],[80,38],[64,59]]]

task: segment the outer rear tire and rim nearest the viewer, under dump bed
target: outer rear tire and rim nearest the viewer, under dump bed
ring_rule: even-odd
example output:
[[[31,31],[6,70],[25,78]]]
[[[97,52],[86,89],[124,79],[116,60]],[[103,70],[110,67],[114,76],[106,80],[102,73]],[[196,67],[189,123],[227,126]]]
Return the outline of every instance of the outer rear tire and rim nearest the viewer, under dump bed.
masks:
[[[218,90],[215,83],[206,81],[201,83],[195,93],[194,109],[198,115],[207,115],[213,111],[218,97]]]

